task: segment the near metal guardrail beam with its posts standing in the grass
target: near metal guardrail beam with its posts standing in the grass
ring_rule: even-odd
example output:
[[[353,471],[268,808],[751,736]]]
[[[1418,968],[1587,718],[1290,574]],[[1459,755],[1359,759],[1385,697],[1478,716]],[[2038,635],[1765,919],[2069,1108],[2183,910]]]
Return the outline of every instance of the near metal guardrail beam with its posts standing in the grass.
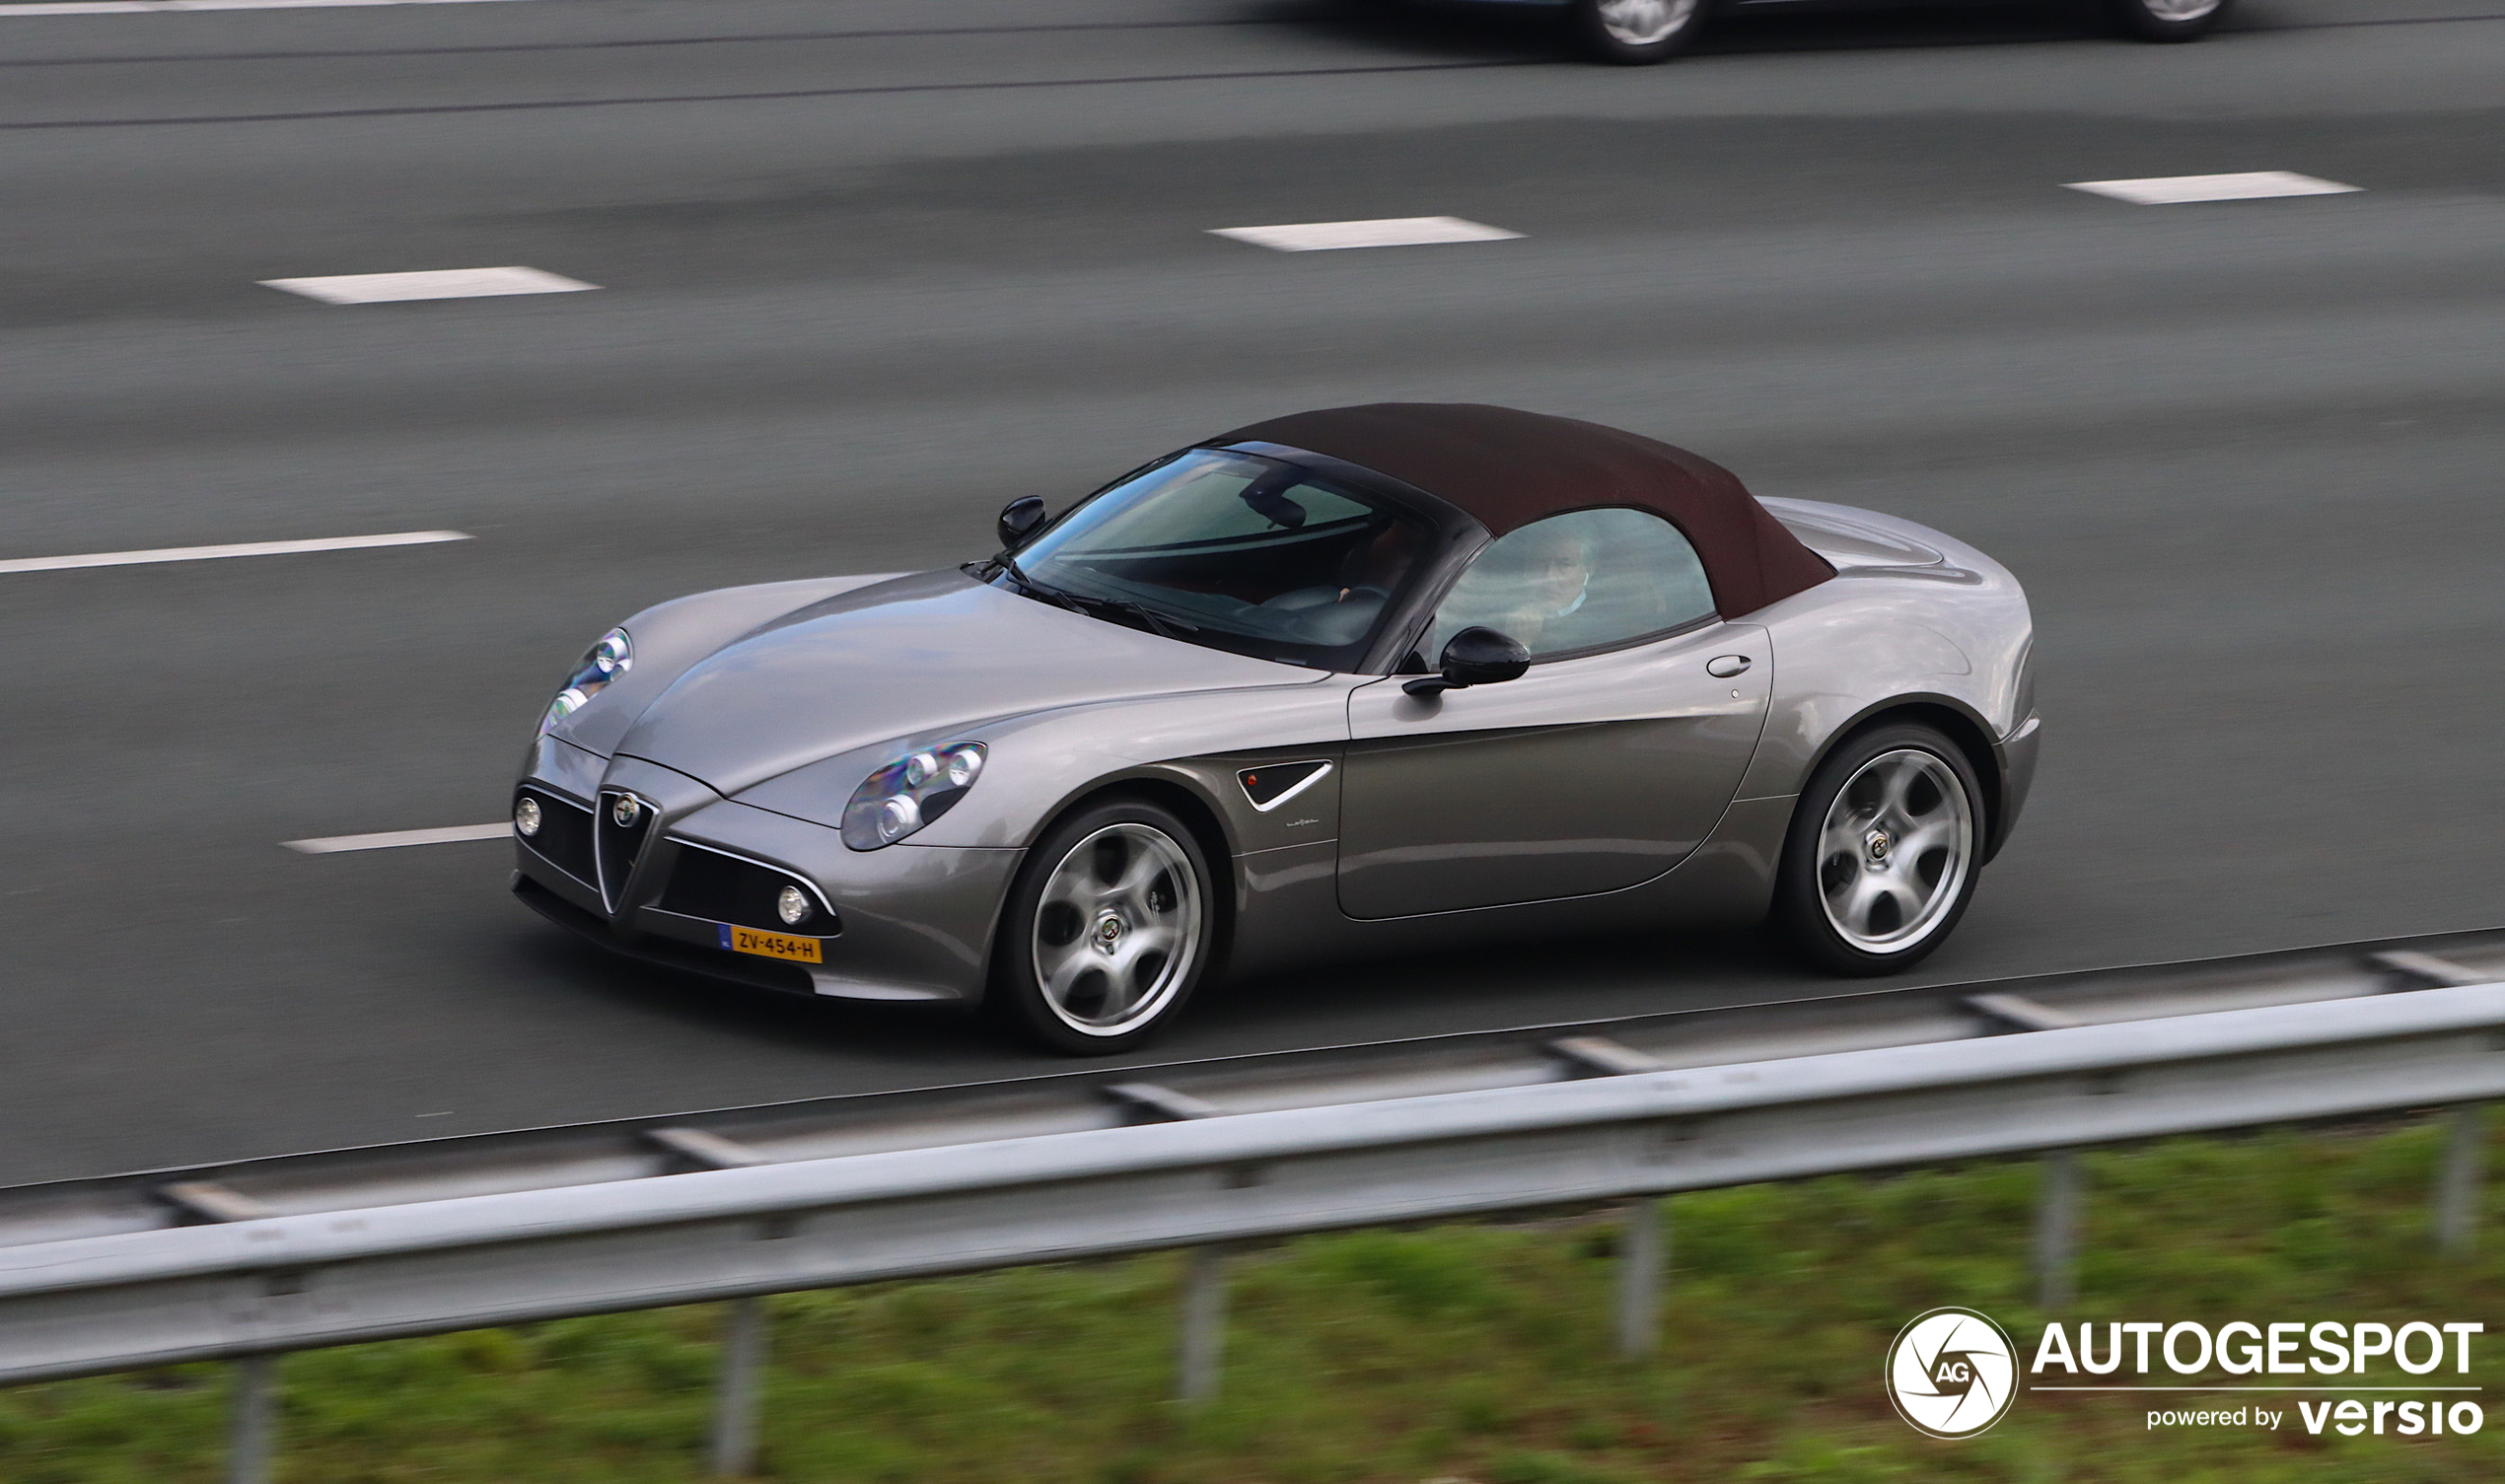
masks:
[[[1658,1066],[1621,1041],[1551,1039],[1543,1081],[1210,1114],[1157,1084],[1115,1091],[1167,1119],[952,1146],[749,1164],[704,1134],[671,1179],[609,1179],[366,1209],[250,1214],[230,1189],[170,1196],[243,1216],[0,1246],[0,1381],[240,1356],[235,1479],[258,1479],[281,1351],[654,1309],[1077,1256],[1192,1246],[1185,1394],[1217,1376],[1225,1244],[1340,1226],[1636,1201],[1621,1346],[1651,1346],[1651,1196],[1816,1174],[2057,1151],[2039,1261],[2067,1291],[2077,1164],[2059,1151],[2505,1096],[2505,983],[2387,953],[2407,994],[2067,1024],[2034,996],[1969,1014],[2001,1034]],[[2505,978],[2505,976],[2500,976]],[[2477,1124],[2457,1119],[2447,1244],[2467,1246]],[[1648,1256],[1653,1254],[1653,1256]],[[734,1311],[716,1466],[752,1436],[762,1314]]]

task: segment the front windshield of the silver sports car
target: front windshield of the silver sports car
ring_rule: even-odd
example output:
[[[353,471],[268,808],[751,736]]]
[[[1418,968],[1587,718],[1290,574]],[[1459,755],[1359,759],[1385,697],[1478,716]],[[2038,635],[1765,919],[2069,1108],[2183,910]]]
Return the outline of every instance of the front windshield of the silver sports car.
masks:
[[[1005,578],[1172,638],[1350,671],[1430,543],[1390,501],[1192,448],[1062,516]]]

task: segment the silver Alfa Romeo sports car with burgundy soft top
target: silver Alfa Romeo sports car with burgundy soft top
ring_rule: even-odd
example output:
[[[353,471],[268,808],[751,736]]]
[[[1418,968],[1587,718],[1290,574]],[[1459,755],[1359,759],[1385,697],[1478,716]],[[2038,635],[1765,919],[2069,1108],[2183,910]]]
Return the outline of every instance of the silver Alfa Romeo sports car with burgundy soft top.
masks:
[[[2037,758],[2019,583],[1596,423],[1237,428],[964,568],[611,628],[514,791],[514,891],[752,986],[1115,1051],[1212,973],[1776,923],[1939,946]]]

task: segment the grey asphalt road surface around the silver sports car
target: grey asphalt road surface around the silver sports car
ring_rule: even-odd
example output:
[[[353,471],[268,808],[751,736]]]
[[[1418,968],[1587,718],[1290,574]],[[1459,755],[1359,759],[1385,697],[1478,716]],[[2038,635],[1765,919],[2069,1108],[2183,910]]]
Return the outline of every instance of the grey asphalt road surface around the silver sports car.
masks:
[[[5,10],[5,8],[0,8]],[[1924,978],[2505,918],[2505,5],[1748,15],[1661,70],[1255,0],[0,13],[0,1181],[1015,1076],[586,956],[498,843],[674,593],[987,551],[1305,405],[1498,400],[1956,531],[2029,818]],[[2069,180],[2302,170],[2137,208]],[[1210,228],[1463,215],[1283,255]],[[333,308],[256,280],[534,265]],[[1756,938],[1210,994],[1157,1056],[1824,994]]]

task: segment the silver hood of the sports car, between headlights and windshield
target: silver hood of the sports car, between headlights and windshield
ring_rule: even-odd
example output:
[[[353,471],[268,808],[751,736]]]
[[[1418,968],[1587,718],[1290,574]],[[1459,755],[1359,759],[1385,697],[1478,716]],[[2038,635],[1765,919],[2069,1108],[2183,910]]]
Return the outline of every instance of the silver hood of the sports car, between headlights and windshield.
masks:
[[[1027,711],[1320,678],[919,573],[809,603],[696,661],[619,753],[729,796],[879,741]]]

